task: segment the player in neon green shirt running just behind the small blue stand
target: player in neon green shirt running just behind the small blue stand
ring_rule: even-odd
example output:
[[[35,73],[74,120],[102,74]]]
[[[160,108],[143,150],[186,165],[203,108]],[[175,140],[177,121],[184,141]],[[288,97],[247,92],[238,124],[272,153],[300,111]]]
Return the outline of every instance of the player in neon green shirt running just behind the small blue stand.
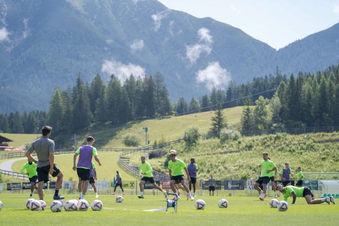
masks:
[[[194,200],[194,197],[192,196],[189,188],[185,184],[184,173],[183,173],[182,170],[184,170],[186,175],[187,175],[187,182],[190,182],[190,180],[191,180],[190,175],[189,175],[189,171],[187,171],[185,163],[176,158],[176,155],[177,155],[176,150],[171,150],[170,153],[171,153],[170,154],[171,160],[168,161],[168,171],[169,171],[170,177],[171,177],[170,185],[171,185],[172,191],[174,193],[178,194],[178,191],[175,187],[175,184],[181,183],[181,185],[184,187],[185,191],[187,192],[188,197],[190,197],[191,200]],[[179,197],[178,197],[178,199],[179,199]],[[188,198],[187,198],[187,200],[188,200]]]

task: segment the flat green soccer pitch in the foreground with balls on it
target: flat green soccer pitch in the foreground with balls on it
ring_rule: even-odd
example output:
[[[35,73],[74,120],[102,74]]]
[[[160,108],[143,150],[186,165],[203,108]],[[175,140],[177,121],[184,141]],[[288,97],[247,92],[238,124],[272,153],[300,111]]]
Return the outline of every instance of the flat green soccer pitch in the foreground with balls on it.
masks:
[[[67,195],[66,199],[77,199],[77,195]],[[101,212],[89,209],[87,212],[52,213],[48,207],[45,211],[31,212],[26,209],[25,201],[28,194],[0,194],[3,209],[0,211],[0,225],[259,225],[259,224],[284,224],[284,225],[338,225],[339,205],[327,203],[308,205],[304,198],[297,198],[292,205],[289,200],[289,209],[279,212],[269,206],[270,198],[259,201],[256,197],[197,197],[206,202],[204,210],[196,210],[194,201],[186,201],[182,197],[178,201],[178,212],[168,213],[145,212],[142,210],[165,208],[163,196],[145,196],[138,199],[136,196],[125,195],[122,203],[115,202],[116,196],[102,195],[99,197],[104,204]],[[34,194],[33,198],[37,198]],[[51,194],[46,195],[47,205],[52,201]],[[218,207],[218,200],[226,198],[229,201],[227,209]],[[91,203],[95,200],[93,195],[85,199]],[[109,210],[114,209],[114,210]]]

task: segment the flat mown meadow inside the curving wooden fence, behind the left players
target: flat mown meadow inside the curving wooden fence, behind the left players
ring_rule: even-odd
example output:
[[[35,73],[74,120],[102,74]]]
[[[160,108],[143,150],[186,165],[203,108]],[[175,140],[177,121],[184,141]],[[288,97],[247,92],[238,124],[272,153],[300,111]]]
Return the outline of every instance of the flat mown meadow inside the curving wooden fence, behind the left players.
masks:
[[[112,180],[116,175],[116,170],[122,175],[123,180],[136,180],[135,177],[130,176],[127,173],[124,173],[122,168],[118,165],[118,156],[120,152],[99,152],[99,158],[101,160],[102,165],[98,167],[98,180]],[[94,161],[94,160],[93,160]],[[12,169],[14,172],[20,172],[21,166],[26,162],[26,160],[17,161],[13,164]],[[64,180],[69,180],[73,178],[73,180],[78,180],[77,172],[72,170],[73,167],[73,154],[68,155],[56,155],[55,162],[58,164],[60,169],[64,174]]]

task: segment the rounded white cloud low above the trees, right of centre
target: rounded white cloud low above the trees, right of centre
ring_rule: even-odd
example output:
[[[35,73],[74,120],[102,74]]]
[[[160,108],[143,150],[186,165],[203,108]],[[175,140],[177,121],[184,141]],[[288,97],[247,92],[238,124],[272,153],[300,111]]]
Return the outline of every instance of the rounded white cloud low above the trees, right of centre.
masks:
[[[213,87],[225,88],[231,81],[231,74],[220,67],[219,62],[210,62],[205,69],[196,72],[196,81],[204,83],[209,90]]]

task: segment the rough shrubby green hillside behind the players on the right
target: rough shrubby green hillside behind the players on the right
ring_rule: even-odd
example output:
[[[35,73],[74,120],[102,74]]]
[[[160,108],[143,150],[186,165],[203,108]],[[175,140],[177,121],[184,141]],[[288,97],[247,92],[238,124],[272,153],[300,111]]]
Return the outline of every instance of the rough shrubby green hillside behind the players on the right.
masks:
[[[316,141],[339,139],[339,133],[308,134],[292,136],[287,134],[242,137],[237,141],[220,144],[218,139],[200,140],[196,146],[186,148],[184,142],[171,148],[177,150],[178,158],[189,163],[194,157],[200,170],[198,178],[208,179],[213,174],[217,179],[256,178],[256,165],[262,160],[262,152],[268,152],[278,171],[285,162],[296,170],[303,172],[337,172],[339,169],[339,142],[316,143]],[[170,148],[168,148],[170,149]],[[221,154],[230,150],[241,150],[240,153]],[[131,155],[131,164],[139,164],[140,154]],[[164,173],[166,157],[148,160],[153,168]],[[336,175],[338,177],[339,175]]]

